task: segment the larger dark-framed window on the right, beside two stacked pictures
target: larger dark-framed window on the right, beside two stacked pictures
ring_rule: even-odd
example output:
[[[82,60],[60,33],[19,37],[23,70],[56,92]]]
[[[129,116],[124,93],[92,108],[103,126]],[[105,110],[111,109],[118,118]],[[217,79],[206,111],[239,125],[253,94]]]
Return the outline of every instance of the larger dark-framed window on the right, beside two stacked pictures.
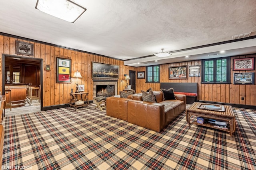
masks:
[[[230,58],[202,60],[202,83],[230,83]]]

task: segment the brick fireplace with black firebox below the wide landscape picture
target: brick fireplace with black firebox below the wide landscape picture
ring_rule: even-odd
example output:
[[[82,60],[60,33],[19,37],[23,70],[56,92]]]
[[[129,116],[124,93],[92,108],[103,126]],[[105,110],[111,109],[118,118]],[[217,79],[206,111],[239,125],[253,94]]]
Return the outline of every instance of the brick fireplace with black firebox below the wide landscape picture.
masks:
[[[104,93],[106,90],[107,86],[113,87],[114,88],[114,94],[113,96],[117,95],[117,81],[108,81],[108,80],[97,80],[97,81],[93,81],[93,97],[98,96],[97,94],[101,94]],[[98,86],[98,88],[97,88]],[[98,90],[98,92],[97,92]],[[100,91],[100,92],[99,92]]]

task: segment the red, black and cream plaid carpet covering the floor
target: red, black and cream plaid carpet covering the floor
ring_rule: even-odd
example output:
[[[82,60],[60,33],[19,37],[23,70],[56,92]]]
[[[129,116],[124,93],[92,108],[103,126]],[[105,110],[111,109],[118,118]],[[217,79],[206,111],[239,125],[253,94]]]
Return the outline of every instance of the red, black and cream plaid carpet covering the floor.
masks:
[[[94,106],[5,117],[2,169],[256,169],[256,110],[234,108],[231,138],[185,113],[156,133]]]

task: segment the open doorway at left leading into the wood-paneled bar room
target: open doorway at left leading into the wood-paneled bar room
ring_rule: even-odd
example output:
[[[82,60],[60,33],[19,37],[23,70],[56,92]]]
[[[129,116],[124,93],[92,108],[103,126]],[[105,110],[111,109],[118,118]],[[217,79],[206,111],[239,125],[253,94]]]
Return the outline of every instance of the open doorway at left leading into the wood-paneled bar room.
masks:
[[[31,88],[38,87],[39,99],[37,101],[39,103],[38,104],[39,107],[37,106],[37,108],[40,109],[38,111],[41,111],[43,109],[42,107],[42,101],[43,101],[42,63],[43,63],[43,59],[36,59],[31,57],[22,57],[22,56],[15,56],[15,55],[2,55],[2,68],[3,68],[2,69],[2,93],[3,95],[6,95],[6,98],[8,95],[14,96],[12,95],[12,92],[14,93],[14,91],[16,90],[14,89],[11,90],[10,88],[17,89],[17,88],[23,88],[23,86],[25,88],[26,86],[29,86]],[[26,105],[28,106],[29,100],[24,102],[25,100],[23,99],[24,95],[26,95],[25,99],[28,97],[28,92],[29,90],[28,88],[26,88],[25,92],[23,92],[25,94],[22,94],[20,96],[19,96],[20,94],[19,92],[18,92],[18,95],[15,94],[15,97],[22,98],[22,102],[19,103],[19,99],[14,100],[14,101],[17,101],[17,103],[13,104],[14,107],[12,107],[10,102],[7,102],[6,100],[6,102],[9,104],[8,107],[18,108],[18,106],[25,106],[25,107]],[[33,92],[33,94],[34,93],[35,92]],[[11,98],[8,98],[8,100],[10,99]],[[12,102],[13,100],[10,100],[10,101]],[[24,107],[20,107],[20,108],[24,108]]]

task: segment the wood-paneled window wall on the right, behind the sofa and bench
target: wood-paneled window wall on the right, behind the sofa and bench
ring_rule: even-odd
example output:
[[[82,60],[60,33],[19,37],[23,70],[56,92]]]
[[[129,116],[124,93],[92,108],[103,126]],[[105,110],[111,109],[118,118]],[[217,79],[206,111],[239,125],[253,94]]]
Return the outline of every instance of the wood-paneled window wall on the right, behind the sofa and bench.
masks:
[[[233,59],[256,57],[256,55],[244,55],[231,57],[230,66],[230,80],[231,84],[201,84],[200,77],[188,77],[188,79],[169,79],[168,67],[169,66],[193,66],[202,65],[201,61],[188,61],[180,63],[170,63],[160,65],[160,82],[191,82],[198,83],[198,100],[205,100],[211,102],[222,102],[232,104],[244,104],[256,106],[256,85],[234,85],[233,73],[234,72],[255,72],[255,70],[249,71],[233,71]],[[145,71],[146,67],[138,67],[138,71]],[[202,68],[201,68],[202,70]],[[145,85],[146,84],[146,85]],[[145,83],[145,79],[137,79],[137,90],[147,90],[152,87],[153,90],[160,90],[160,83]],[[175,89],[174,89],[175,91]],[[241,98],[244,97],[244,100]]]

